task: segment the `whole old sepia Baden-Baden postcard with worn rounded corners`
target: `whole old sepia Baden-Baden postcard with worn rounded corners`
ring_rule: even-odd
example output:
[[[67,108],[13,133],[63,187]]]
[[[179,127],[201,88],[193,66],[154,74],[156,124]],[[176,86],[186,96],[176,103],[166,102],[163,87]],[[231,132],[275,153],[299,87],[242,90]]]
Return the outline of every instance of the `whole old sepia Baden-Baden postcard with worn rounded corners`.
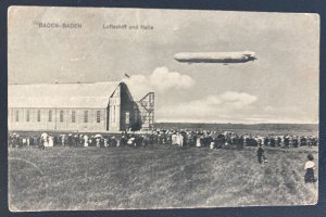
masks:
[[[319,23],[10,7],[9,209],[315,205]]]

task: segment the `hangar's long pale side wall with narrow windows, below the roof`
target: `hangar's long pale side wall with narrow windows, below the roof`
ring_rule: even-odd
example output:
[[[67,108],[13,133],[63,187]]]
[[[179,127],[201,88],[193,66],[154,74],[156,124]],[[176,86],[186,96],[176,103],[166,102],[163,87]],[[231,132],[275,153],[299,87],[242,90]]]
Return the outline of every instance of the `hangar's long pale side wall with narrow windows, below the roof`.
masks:
[[[103,131],[105,108],[9,108],[10,130]]]

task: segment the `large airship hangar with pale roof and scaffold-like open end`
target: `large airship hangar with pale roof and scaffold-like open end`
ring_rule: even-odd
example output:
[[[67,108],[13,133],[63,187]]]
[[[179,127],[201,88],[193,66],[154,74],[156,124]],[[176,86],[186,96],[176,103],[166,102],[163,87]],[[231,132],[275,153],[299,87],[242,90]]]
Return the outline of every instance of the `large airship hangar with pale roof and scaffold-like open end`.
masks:
[[[116,132],[138,130],[142,125],[150,128],[153,115],[143,119],[148,114],[141,111],[148,110],[139,107],[149,103],[140,102],[134,101],[125,82],[9,85],[9,130]]]

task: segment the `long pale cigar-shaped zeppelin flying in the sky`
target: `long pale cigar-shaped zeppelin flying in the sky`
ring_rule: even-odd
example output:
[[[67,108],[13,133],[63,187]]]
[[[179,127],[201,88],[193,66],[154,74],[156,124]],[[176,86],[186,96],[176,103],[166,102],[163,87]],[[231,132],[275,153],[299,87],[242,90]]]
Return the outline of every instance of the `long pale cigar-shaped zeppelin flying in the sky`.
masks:
[[[246,63],[256,60],[252,51],[242,52],[187,52],[176,53],[174,59],[185,63]]]

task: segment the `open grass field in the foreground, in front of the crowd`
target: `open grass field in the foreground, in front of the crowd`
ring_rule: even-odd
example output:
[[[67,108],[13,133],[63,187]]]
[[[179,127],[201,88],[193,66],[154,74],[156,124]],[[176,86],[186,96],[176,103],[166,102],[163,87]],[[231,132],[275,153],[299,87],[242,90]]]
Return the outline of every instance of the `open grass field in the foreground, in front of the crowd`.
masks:
[[[9,150],[11,210],[302,205],[317,201],[303,181],[317,149],[34,148]]]

